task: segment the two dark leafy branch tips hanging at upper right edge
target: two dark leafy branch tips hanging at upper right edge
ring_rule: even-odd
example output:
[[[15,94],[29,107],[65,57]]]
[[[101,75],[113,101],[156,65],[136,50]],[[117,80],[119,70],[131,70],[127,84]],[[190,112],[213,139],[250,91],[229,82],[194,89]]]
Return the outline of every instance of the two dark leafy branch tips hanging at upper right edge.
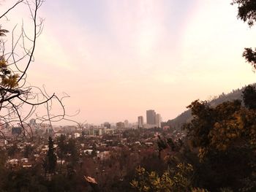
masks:
[[[238,4],[237,18],[247,22],[252,27],[256,21],[256,1],[255,0],[233,0],[231,4]],[[256,69],[256,49],[244,48],[243,57]]]

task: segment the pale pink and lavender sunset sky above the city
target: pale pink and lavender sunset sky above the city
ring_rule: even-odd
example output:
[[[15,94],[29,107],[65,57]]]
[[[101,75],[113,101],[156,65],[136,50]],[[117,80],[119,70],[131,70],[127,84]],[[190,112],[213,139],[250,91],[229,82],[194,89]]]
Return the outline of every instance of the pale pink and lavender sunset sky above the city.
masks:
[[[255,82],[241,56],[256,45],[255,27],[230,2],[47,0],[28,82],[67,93],[67,114],[80,110],[78,122],[135,122],[146,110],[176,118],[195,99]],[[29,23],[23,5],[4,24],[21,18]]]

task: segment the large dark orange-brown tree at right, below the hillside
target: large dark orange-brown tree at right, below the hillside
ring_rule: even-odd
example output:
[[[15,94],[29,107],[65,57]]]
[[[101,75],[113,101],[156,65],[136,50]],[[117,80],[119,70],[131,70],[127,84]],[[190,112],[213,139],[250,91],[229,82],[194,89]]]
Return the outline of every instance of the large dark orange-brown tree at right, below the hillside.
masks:
[[[197,149],[200,164],[195,172],[200,185],[210,191],[227,187],[244,191],[248,186],[247,191],[255,191],[256,111],[239,100],[217,107],[194,101],[189,109],[193,119],[184,128]]]

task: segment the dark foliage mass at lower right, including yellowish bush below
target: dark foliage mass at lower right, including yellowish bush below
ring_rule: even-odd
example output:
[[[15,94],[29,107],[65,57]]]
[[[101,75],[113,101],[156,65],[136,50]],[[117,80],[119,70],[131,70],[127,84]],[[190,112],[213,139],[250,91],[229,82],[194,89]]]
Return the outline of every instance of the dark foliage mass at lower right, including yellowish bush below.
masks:
[[[256,191],[255,96],[255,87],[248,86],[242,96],[245,106],[240,100],[216,107],[207,101],[193,101],[188,106],[192,120],[183,126],[187,137],[182,141],[159,137],[159,152],[168,151],[162,158],[173,172],[168,169],[158,176],[140,168],[132,186],[138,191],[193,191],[195,187],[205,191]],[[182,179],[176,175],[181,164],[191,167]],[[173,184],[177,178],[178,188]],[[179,188],[186,180],[189,185]]]

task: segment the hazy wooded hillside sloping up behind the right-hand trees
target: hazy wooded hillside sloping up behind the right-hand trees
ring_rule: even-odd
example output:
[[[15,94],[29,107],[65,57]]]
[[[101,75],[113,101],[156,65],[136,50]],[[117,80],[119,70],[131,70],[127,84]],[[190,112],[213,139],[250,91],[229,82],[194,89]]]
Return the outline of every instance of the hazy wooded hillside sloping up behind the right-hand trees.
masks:
[[[253,84],[256,85],[256,84]],[[238,88],[237,90],[233,90],[230,93],[222,93],[219,96],[214,96],[213,99],[211,99],[211,101],[208,101],[209,104],[211,104],[211,106],[217,106],[218,104],[221,104],[222,102],[225,101],[233,101],[235,99],[241,99],[241,95],[242,95],[242,91],[244,91],[244,88]],[[166,123],[163,123],[164,126],[170,126],[171,128],[175,128],[175,129],[181,129],[181,126],[184,123],[188,123],[190,120],[192,120],[192,115],[191,115],[191,111],[187,110],[181,113],[181,115],[178,115],[177,118],[174,118],[173,120],[167,120]]]

